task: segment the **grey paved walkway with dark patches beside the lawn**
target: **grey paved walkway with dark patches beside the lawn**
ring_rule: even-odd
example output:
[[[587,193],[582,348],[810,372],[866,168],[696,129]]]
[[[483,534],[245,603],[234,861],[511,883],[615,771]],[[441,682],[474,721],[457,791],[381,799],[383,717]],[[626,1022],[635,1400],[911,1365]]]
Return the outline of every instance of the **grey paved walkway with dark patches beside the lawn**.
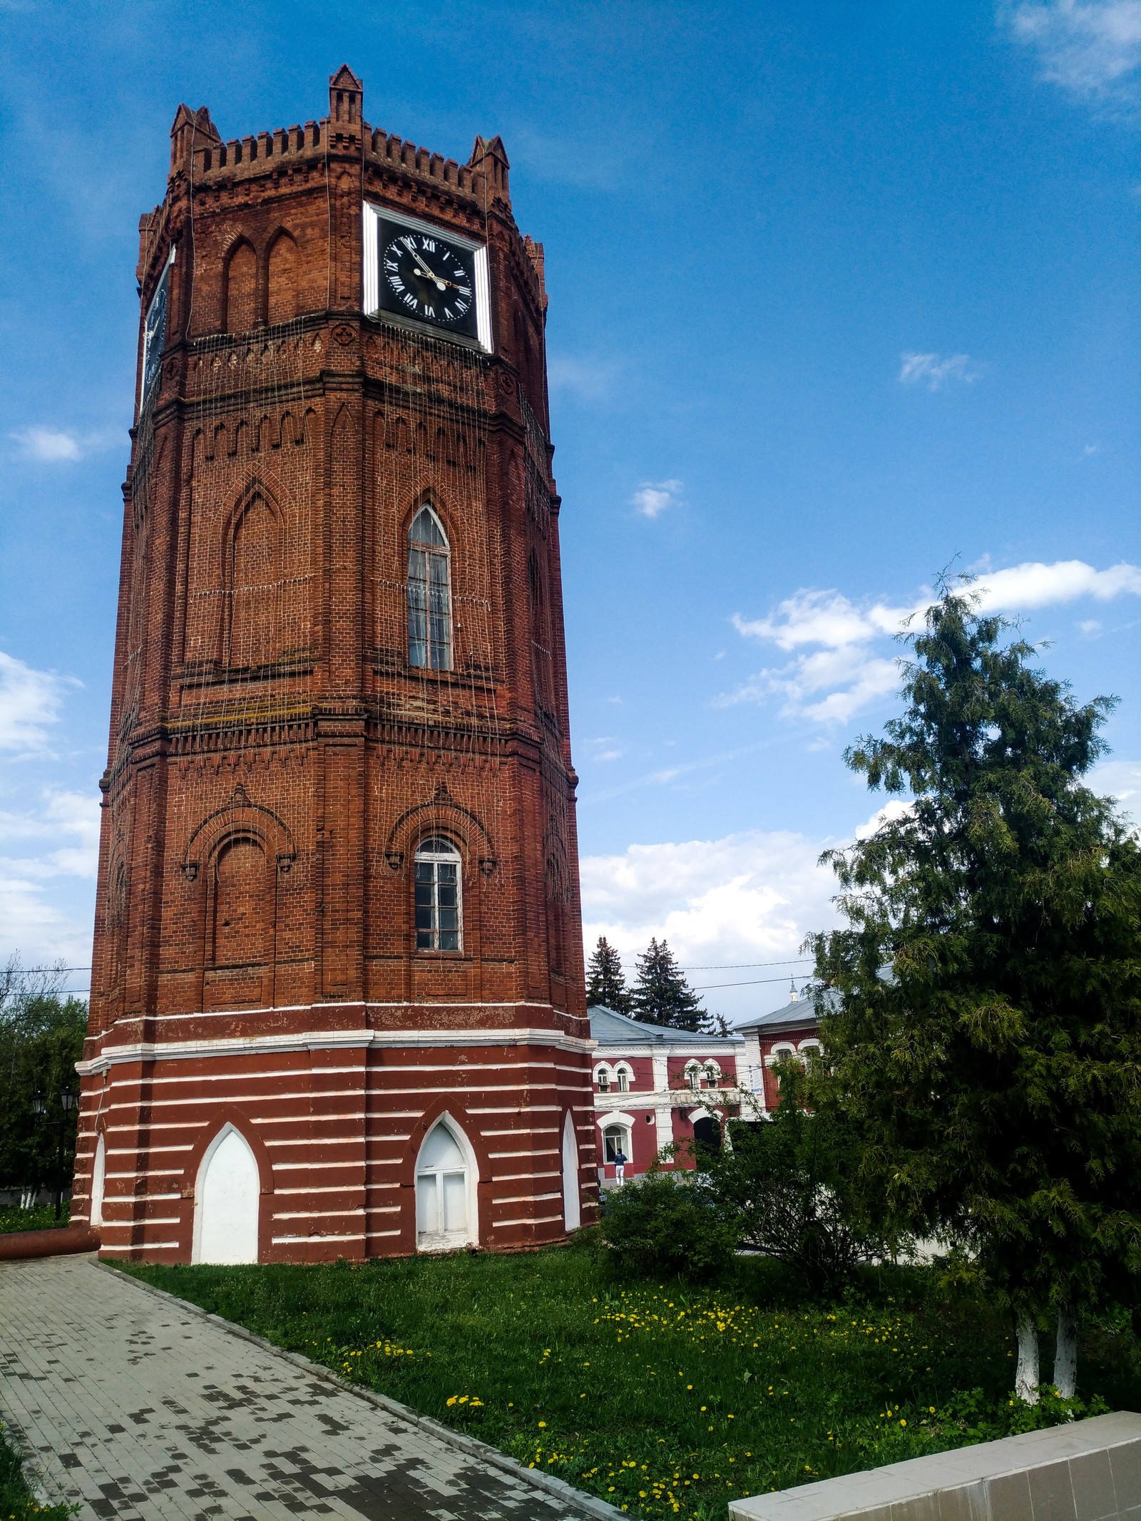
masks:
[[[598,1515],[82,1256],[0,1264],[0,1415],[82,1521]]]

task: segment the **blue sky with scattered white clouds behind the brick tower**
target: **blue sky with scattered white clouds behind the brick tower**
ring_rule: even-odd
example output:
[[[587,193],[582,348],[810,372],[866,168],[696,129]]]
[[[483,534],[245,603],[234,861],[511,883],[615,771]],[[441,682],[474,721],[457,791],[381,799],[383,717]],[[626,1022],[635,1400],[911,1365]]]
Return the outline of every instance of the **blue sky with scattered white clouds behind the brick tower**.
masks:
[[[467,158],[546,245],[587,941],[782,1002],[948,566],[1141,792],[1141,0],[0,0],[0,951],[90,958],[137,300],[180,100]],[[727,970],[733,969],[733,970]],[[84,978],[75,978],[84,986]],[[745,986],[726,987],[721,984]]]

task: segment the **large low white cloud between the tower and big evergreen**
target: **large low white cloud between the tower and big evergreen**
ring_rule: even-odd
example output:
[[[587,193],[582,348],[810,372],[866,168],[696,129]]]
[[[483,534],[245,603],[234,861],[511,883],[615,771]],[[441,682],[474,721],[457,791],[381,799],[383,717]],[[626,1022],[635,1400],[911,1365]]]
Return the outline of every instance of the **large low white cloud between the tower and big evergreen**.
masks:
[[[735,967],[783,960],[797,976],[811,970],[791,963],[802,955],[808,931],[835,920],[835,878],[817,864],[828,844],[791,832],[752,830],[584,856],[580,870],[587,955],[605,935],[633,966],[651,935],[665,937],[683,966],[724,967],[688,972],[691,986],[704,984],[707,1008],[732,1019],[777,1008],[788,996],[780,966]],[[718,983],[755,986],[715,989]]]

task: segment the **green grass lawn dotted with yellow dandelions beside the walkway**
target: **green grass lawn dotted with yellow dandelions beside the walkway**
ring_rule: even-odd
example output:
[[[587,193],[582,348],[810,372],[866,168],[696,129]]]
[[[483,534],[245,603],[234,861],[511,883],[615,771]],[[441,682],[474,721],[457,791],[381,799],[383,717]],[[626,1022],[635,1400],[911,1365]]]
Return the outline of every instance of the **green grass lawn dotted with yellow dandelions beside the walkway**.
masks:
[[[870,1273],[829,1305],[764,1259],[692,1288],[622,1284],[586,1249],[126,1272],[640,1516],[712,1521],[1063,1415],[1010,1402],[1006,1320],[930,1272]],[[1082,1355],[1083,1398],[1139,1408],[1132,1328]]]

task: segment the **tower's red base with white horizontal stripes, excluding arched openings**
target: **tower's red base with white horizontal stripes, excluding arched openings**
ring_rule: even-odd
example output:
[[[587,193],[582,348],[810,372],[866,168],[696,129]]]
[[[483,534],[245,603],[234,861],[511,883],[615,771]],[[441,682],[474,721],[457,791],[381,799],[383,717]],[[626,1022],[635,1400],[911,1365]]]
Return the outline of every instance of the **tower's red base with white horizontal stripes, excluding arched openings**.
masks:
[[[243,1011],[240,1033],[224,1036],[205,1034],[199,1021],[190,1030],[158,1021],[146,1045],[111,1045],[84,1063],[72,1218],[88,1217],[102,1133],[100,1255],[192,1261],[202,1154],[233,1124],[257,1159],[260,1261],[409,1255],[417,1156],[447,1115],[476,1156],[472,1244],[517,1250],[563,1240],[567,1116],[580,1156],[593,1153],[589,1042],[523,1028],[519,1013],[485,1008],[485,1022],[473,1024],[470,1008],[409,1010],[417,1024],[408,1028],[391,1010],[370,1018],[361,1005],[319,1005]],[[577,1183],[583,1218],[593,1218],[593,1168]]]

